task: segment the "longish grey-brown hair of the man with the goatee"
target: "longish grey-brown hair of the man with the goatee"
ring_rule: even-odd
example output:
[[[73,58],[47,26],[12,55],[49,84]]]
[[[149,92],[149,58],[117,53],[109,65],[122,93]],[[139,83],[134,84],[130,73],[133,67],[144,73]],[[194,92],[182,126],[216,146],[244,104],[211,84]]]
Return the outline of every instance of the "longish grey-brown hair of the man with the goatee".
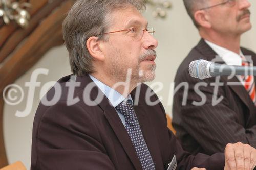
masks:
[[[109,15],[114,10],[132,5],[145,9],[144,0],[77,0],[63,21],[63,38],[69,51],[73,74],[82,76],[94,72],[93,58],[86,42],[91,36],[108,41],[103,34],[110,25]]]

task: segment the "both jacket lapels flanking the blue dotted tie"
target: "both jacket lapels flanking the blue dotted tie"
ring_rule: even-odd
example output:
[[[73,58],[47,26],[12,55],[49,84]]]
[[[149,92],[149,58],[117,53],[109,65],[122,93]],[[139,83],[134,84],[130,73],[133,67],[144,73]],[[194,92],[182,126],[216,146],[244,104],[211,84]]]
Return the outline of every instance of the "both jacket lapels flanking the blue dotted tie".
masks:
[[[136,90],[134,90],[134,91],[136,91]],[[133,98],[134,95],[132,93],[131,93],[131,95]],[[142,99],[140,99],[140,100],[142,100]],[[108,103],[108,104],[105,105],[105,103]],[[125,127],[123,126],[118,114],[116,113],[115,108],[109,104],[109,101],[107,98],[104,98],[100,105],[101,105],[102,109],[104,110],[106,119],[110,123],[113,131],[115,132],[116,136],[118,137],[120,143],[122,144],[123,149],[125,150],[127,156],[130,158],[135,169],[142,170],[139,158],[136,154],[136,150],[131,141],[131,138],[130,138],[129,134],[127,133]],[[154,129],[152,127],[152,124],[150,123],[150,118],[148,118],[148,115],[145,112],[145,109],[143,108],[143,106],[140,103],[138,106],[134,106],[134,110],[139,119],[140,128],[141,128],[143,137],[147,143],[147,147],[150,150],[155,167],[156,167],[156,169],[163,169],[159,145],[155,138],[156,135],[154,135]]]

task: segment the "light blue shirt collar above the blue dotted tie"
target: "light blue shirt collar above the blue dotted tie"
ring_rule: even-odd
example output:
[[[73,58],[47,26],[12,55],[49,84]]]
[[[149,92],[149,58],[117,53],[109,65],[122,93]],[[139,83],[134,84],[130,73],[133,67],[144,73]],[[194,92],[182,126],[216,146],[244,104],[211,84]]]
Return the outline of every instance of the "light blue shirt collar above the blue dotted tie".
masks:
[[[105,85],[104,83],[102,83],[101,81],[93,77],[92,75],[89,74],[89,76],[94,81],[94,83],[98,86],[98,88],[103,92],[106,98],[109,99],[113,107],[116,107],[124,100],[131,100],[133,105],[133,99],[131,94],[129,94],[127,98],[125,98],[122,94],[112,89],[108,85]]]

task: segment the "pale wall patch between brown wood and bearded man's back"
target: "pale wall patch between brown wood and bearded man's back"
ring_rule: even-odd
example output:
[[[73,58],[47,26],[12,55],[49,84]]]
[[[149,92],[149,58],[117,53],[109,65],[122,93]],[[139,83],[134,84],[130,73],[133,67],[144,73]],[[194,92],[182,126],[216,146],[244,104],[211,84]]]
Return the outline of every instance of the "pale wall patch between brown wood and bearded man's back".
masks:
[[[22,103],[16,106],[8,104],[4,106],[4,141],[9,163],[20,160],[27,169],[30,169],[32,126],[35,111],[39,104],[40,89],[48,81],[57,81],[59,78],[71,74],[68,59],[69,55],[64,45],[53,48],[15,82],[15,84],[23,87],[25,98]],[[49,69],[49,74],[38,76],[37,81],[41,82],[41,86],[36,87],[34,98],[27,102],[28,87],[25,87],[25,82],[30,81],[32,72],[38,68]],[[16,117],[16,111],[24,111],[27,103],[32,105],[30,114],[24,118]]]

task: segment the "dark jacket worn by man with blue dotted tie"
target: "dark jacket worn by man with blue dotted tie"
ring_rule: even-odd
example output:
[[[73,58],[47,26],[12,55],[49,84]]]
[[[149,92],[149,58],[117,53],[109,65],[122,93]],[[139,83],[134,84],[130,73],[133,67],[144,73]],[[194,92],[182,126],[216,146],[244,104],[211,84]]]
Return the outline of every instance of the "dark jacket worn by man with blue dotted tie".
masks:
[[[66,104],[69,99],[65,84],[68,81],[70,76],[58,81],[62,93],[56,104],[44,106],[40,103],[38,106],[33,125],[31,169],[142,169],[131,139],[108,99],[104,96],[97,102],[97,94],[103,94],[97,87],[91,93],[88,88],[84,92],[88,84],[94,84],[90,77],[77,77],[76,81],[81,85],[75,88],[72,97],[81,100],[72,106]],[[164,169],[164,163],[170,162],[174,154],[177,169],[190,170],[194,166],[208,170],[223,169],[223,153],[211,157],[204,154],[193,156],[182,150],[167,128],[162,104],[148,106],[145,103],[147,88],[143,84],[131,95],[136,105],[136,90],[140,94],[134,109],[156,169]],[[48,100],[53,98],[55,91],[50,89],[46,96]],[[95,106],[86,105],[83,96],[87,100],[95,100]],[[155,93],[150,99],[158,100]]]

